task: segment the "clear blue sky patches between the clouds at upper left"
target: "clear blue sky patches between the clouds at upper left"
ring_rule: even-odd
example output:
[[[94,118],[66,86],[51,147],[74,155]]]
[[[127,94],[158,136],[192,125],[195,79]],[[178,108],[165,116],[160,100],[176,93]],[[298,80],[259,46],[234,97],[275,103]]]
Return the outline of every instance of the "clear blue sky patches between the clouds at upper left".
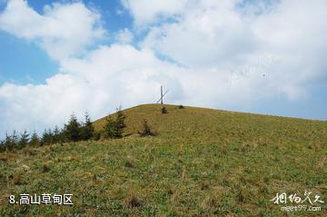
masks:
[[[67,3],[69,1],[30,0],[28,5],[37,13],[43,14],[44,6],[54,2]],[[128,13],[117,15],[117,10],[124,9],[119,1],[84,1],[84,4],[101,12],[104,28],[109,31],[116,32],[122,28],[133,27],[133,19]],[[1,11],[5,9],[5,5],[5,1],[0,2]],[[110,37],[104,41],[104,43],[111,42]],[[42,84],[45,83],[47,77],[58,71],[59,65],[36,44],[21,40],[4,31],[0,32],[0,50],[0,84],[7,81],[15,84]],[[14,59],[15,63],[13,63]]]

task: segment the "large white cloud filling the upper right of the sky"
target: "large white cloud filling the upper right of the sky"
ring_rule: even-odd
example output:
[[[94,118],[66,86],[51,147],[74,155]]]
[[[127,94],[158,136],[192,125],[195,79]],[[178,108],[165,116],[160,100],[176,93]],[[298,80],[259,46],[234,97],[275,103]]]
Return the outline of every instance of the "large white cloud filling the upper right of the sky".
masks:
[[[306,84],[326,80],[325,1],[276,1],[254,9],[236,5],[237,1],[195,1],[177,22],[152,25],[142,46],[188,68],[213,68],[217,76],[253,66],[263,54],[272,54],[280,59],[278,63],[256,66],[261,74],[243,76],[238,83],[247,84],[253,97],[268,83],[269,92],[297,99],[305,95]],[[263,74],[269,76],[260,84],[257,77]]]

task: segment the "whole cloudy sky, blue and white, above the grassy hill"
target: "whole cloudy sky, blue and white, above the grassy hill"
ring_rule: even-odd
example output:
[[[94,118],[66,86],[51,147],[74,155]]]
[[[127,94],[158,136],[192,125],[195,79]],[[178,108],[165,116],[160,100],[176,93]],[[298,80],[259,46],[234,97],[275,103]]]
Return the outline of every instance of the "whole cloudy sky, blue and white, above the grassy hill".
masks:
[[[155,103],[327,119],[325,0],[0,0],[0,133]]]

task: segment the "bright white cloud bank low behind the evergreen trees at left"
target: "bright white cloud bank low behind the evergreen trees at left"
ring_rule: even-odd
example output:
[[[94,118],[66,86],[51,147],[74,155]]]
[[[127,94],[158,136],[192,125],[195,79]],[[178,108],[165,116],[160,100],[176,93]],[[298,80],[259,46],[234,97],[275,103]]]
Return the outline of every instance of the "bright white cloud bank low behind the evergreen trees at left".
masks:
[[[66,59],[60,70],[62,74],[47,79],[46,84],[0,87],[2,131],[61,125],[72,112],[82,118],[88,110],[99,118],[120,104],[155,103],[154,91],[159,91],[161,82],[172,81],[167,86],[178,88],[172,77],[180,69],[158,60],[150,50],[113,44],[82,59]]]

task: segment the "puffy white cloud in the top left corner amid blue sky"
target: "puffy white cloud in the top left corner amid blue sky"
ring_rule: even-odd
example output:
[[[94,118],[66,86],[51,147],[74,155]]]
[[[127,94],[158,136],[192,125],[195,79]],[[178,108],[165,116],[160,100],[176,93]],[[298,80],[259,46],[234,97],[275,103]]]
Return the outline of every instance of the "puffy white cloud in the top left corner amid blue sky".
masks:
[[[105,33],[101,15],[79,2],[45,5],[39,15],[26,1],[10,0],[0,15],[0,29],[35,41],[56,60],[83,53]]]

